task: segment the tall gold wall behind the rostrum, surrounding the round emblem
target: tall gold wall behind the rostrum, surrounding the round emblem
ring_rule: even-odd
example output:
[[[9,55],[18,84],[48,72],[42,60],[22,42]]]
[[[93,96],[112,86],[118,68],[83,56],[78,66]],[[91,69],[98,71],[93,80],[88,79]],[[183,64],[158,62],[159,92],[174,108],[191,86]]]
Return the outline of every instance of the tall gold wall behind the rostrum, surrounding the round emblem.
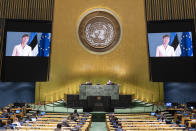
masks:
[[[122,23],[119,46],[104,55],[89,53],[76,37],[80,16],[93,8],[111,10]],[[88,80],[112,80],[120,85],[120,94],[163,101],[162,83],[149,81],[146,41],[144,0],[55,0],[50,81],[36,83],[36,102],[79,94],[79,85]]]

